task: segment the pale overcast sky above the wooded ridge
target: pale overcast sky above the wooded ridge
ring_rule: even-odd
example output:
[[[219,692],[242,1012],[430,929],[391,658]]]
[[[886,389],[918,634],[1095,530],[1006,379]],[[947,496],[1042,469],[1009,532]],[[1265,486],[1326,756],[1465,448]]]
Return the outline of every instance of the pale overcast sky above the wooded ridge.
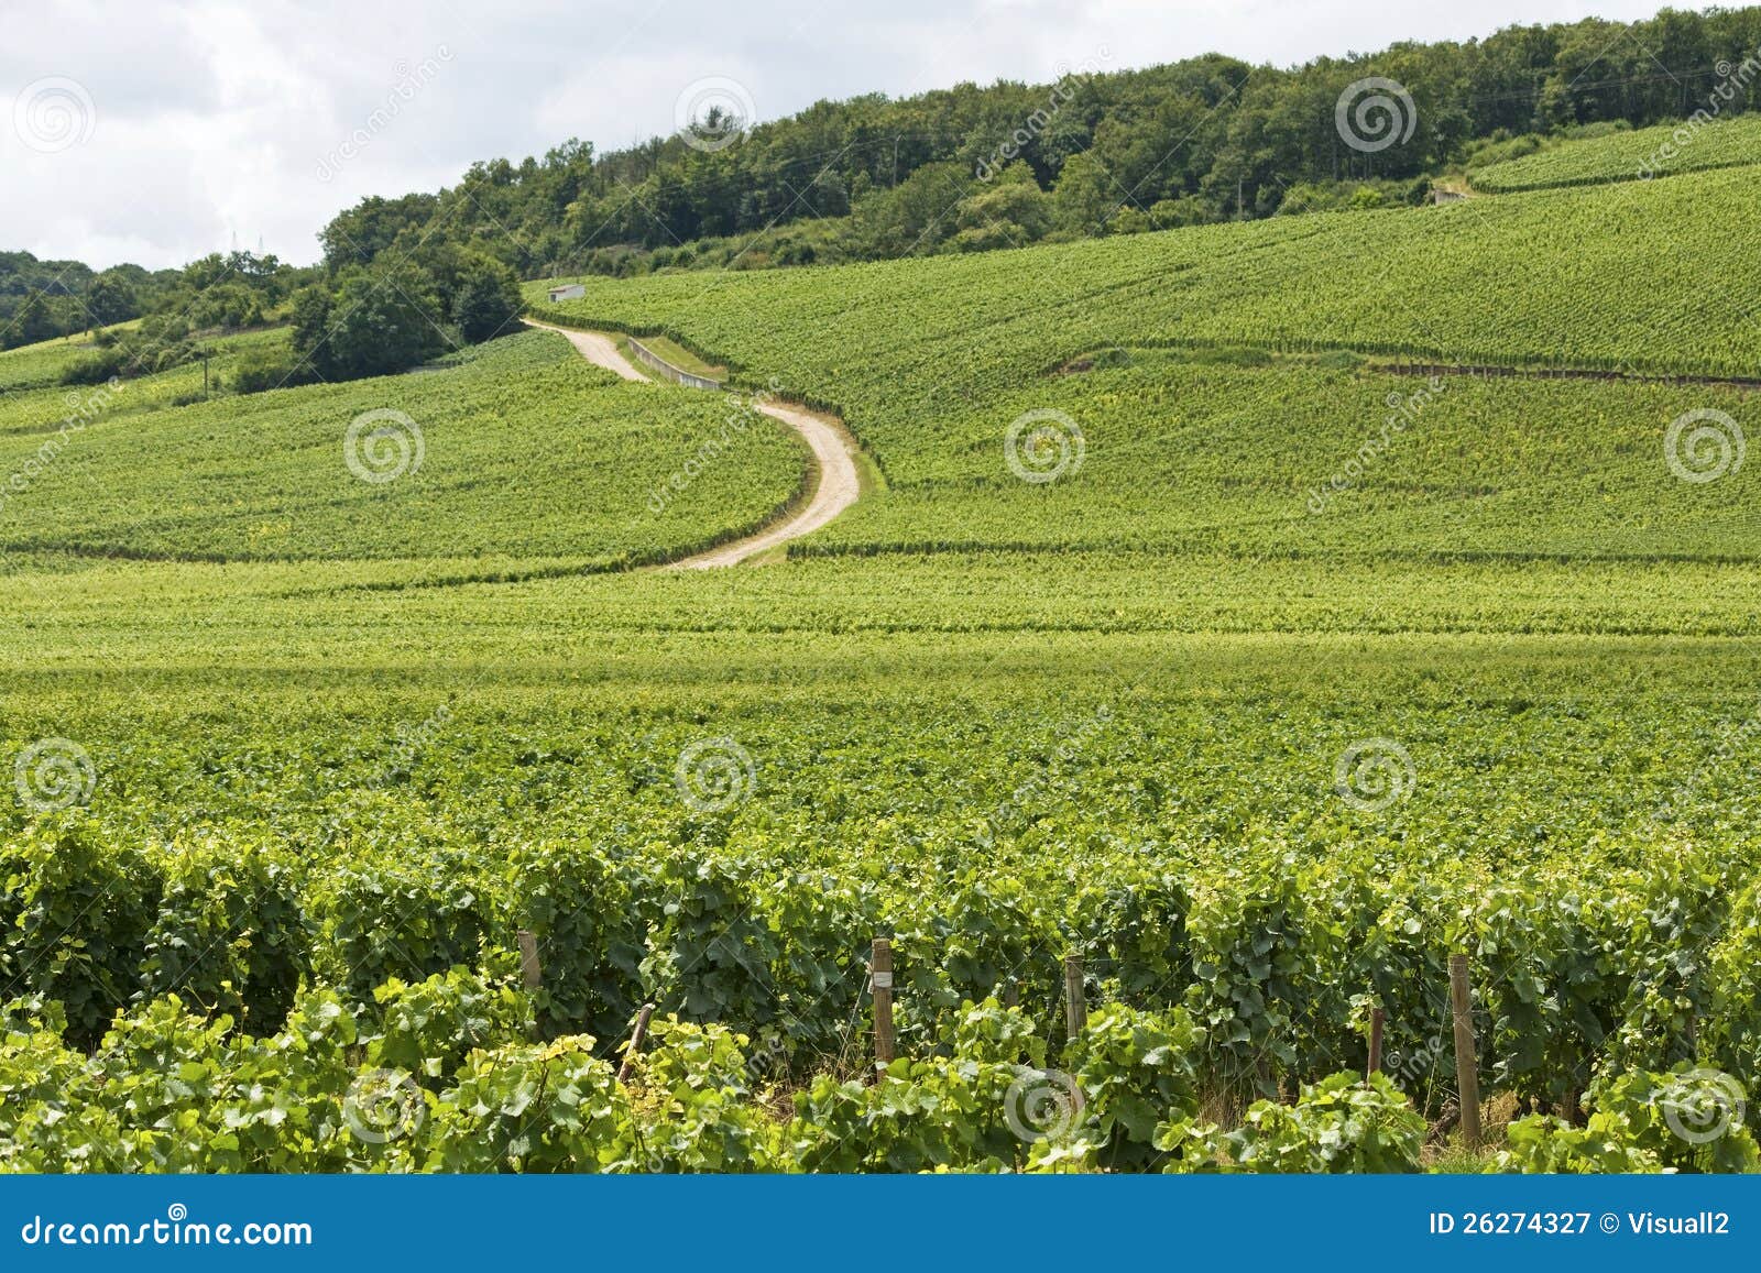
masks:
[[[437,190],[571,136],[667,134],[706,81],[770,120],[826,97],[1206,51],[1291,65],[1659,4],[0,0],[0,248],[158,268],[261,243],[306,264],[361,195]]]

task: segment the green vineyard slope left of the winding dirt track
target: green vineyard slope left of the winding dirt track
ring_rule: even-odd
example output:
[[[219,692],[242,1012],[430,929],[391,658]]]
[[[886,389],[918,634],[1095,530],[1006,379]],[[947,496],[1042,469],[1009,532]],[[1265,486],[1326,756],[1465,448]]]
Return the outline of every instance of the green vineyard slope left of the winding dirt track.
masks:
[[[26,553],[608,563],[733,537],[799,484],[792,437],[757,421],[657,512],[650,493],[720,433],[718,396],[616,384],[553,335],[454,361],[148,414],[127,408],[151,387],[129,384],[120,410],[69,435],[9,493],[0,537]],[[55,408],[32,396],[0,408],[0,472],[28,472],[56,438],[41,421]],[[350,421],[372,410],[403,412],[421,433],[419,467],[394,481],[345,463]],[[387,461],[402,444],[382,442]]]

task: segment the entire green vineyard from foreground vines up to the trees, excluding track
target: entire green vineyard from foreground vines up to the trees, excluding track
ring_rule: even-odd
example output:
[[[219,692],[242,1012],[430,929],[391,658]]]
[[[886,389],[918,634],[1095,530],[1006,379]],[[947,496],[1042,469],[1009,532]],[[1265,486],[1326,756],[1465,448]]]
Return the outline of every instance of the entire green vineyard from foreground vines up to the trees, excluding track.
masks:
[[[0,1166],[1761,1169],[1756,217],[532,285],[738,393],[0,356]],[[812,486],[759,389],[879,477],[634,569]]]

